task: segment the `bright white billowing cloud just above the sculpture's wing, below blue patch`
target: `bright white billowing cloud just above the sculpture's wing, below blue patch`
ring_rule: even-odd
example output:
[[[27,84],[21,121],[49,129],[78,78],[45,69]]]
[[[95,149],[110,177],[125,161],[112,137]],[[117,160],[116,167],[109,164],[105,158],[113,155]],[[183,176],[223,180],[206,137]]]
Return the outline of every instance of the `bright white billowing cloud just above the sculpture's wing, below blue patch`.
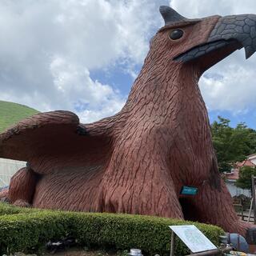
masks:
[[[64,109],[77,110],[83,122],[113,114],[125,102],[111,86],[93,81],[89,70],[63,58],[53,59],[50,72],[54,77],[54,90],[58,91],[58,102],[67,102]]]

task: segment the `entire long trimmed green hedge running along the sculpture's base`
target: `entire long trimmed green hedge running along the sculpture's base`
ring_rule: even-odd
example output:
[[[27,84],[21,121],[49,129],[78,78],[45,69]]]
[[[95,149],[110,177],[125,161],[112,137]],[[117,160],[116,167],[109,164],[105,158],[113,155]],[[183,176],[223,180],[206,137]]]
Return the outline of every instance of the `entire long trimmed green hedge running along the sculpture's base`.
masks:
[[[223,230],[198,222],[185,222],[130,214],[75,213],[54,210],[29,210],[6,207],[9,215],[0,218],[1,253],[37,251],[52,238],[73,236],[81,246],[112,247],[116,250],[140,248],[143,254],[170,253],[170,225],[194,224],[218,245]],[[18,208],[18,213],[9,207]],[[24,212],[23,212],[24,210]],[[0,210],[2,213],[4,210]],[[176,255],[187,254],[186,246],[177,239]]]

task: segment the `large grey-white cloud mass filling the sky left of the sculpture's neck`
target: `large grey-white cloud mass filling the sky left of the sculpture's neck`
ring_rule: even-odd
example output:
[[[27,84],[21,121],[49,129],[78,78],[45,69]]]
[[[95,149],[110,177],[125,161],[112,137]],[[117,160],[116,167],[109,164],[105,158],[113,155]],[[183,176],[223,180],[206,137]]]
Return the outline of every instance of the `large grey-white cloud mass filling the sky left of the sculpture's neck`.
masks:
[[[153,0],[1,1],[0,99],[73,110],[83,122],[114,114],[124,95],[90,70],[123,62],[134,74],[160,22]]]

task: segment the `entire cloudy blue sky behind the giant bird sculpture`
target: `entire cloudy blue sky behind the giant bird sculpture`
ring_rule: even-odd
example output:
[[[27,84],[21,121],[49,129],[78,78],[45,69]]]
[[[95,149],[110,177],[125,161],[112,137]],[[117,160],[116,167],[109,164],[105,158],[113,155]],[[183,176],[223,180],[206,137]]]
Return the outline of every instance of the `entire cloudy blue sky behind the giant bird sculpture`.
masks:
[[[40,111],[71,110],[82,122],[118,112],[149,41],[160,5],[188,18],[256,14],[244,0],[20,0],[0,2],[0,99]],[[256,129],[256,55],[239,50],[199,82],[210,122],[218,115]]]

